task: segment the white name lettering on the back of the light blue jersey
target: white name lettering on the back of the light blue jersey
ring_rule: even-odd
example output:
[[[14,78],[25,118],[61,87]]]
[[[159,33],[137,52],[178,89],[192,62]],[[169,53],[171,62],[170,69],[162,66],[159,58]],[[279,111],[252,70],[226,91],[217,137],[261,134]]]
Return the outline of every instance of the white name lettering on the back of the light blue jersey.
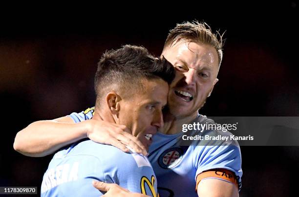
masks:
[[[49,169],[43,176],[42,193],[65,182],[78,179],[79,162],[66,163]]]

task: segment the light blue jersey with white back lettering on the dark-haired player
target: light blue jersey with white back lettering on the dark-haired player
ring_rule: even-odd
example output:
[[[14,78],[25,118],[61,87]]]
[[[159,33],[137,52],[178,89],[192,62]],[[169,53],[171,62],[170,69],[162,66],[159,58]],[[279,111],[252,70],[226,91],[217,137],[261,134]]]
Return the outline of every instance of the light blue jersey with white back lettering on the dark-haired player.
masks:
[[[92,180],[116,183],[157,197],[157,179],[147,157],[84,140],[57,152],[43,176],[42,197],[99,197]]]

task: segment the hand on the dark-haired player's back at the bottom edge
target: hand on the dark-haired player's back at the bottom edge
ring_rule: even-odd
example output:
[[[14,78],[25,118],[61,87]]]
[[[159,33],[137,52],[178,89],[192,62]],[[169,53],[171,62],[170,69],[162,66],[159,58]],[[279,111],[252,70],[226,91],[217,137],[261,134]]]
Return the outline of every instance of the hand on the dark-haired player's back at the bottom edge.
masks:
[[[149,197],[139,193],[132,193],[115,183],[105,183],[93,180],[92,185],[100,191],[107,192],[102,197]]]

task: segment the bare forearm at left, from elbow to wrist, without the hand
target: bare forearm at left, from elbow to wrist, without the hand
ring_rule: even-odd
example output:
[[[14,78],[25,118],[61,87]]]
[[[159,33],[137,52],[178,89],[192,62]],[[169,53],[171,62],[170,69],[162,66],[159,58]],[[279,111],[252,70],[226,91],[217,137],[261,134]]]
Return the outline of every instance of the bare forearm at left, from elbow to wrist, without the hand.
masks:
[[[14,149],[26,156],[43,157],[67,144],[86,138],[85,122],[67,122],[41,120],[31,123],[17,133]]]

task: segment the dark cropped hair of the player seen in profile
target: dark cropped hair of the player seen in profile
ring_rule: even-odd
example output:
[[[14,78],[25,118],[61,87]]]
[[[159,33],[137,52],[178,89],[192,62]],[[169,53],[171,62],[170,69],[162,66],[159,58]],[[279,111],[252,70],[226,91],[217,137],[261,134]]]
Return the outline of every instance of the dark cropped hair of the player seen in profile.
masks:
[[[102,97],[113,88],[142,88],[141,79],[160,78],[170,84],[174,77],[175,70],[165,58],[153,57],[142,46],[124,45],[103,54],[94,87],[97,97]]]

